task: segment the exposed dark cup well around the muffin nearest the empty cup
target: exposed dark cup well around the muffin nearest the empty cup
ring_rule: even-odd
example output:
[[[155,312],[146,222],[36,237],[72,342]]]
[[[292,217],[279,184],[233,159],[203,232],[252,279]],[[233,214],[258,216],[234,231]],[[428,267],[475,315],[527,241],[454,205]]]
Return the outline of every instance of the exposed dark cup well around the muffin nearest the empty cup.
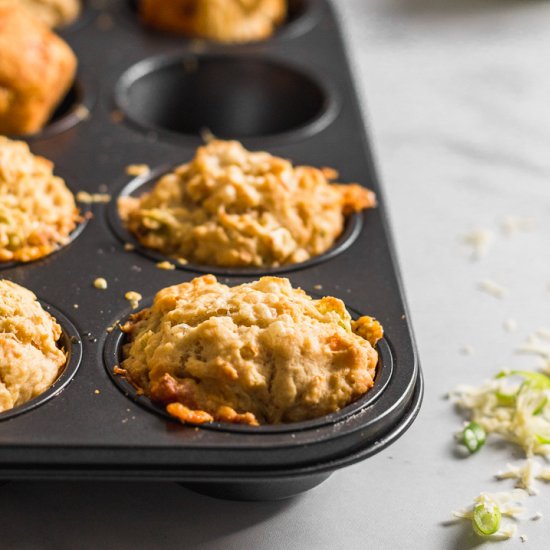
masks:
[[[107,217],[109,225],[115,235],[123,242],[130,243],[137,252],[150,258],[154,262],[165,262],[168,261],[173,264],[176,269],[182,269],[184,271],[193,271],[195,273],[212,273],[213,275],[224,275],[224,276],[236,276],[236,277],[254,277],[260,275],[276,275],[279,273],[287,273],[291,271],[296,271],[298,269],[304,269],[307,267],[312,267],[319,263],[325,262],[334,258],[338,254],[344,252],[349,248],[355,239],[361,233],[363,227],[363,214],[354,213],[346,217],[344,223],[344,229],[340,236],[335,240],[333,246],[329,248],[326,252],[313,256],[304,262],[298,262],[294,264],[285,264],[277,267],[220,267],[220,266],[209,266],[203,264],[195,263],[186,263],[181,264],[176,259],[166,256],[157,250],[148,248],[142,245],[136,237],[128,231],[124,222],[120,218],[118,212],[118,199],[121,197],[139,197],[143,193],[150,191],[155,183],[163,175],[169,173],[175,167],[161,166],[156,168],[149,173],[138,176],[132,179],[130,182],[123,185],[118,193],[113,195],[113,200],[107,205]]]

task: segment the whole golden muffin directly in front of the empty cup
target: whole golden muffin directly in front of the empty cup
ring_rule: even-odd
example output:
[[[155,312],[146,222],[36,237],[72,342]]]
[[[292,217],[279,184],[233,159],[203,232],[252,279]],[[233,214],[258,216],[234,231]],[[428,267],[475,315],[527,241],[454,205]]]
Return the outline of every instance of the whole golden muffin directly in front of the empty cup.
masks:
[[[346,214],[376,203],[360,185],[329,183],[333,175],[214,140],[150,193],[120,199],[119,212],[141,244],[173,258],[226,267],[292,264],[328,250]]]

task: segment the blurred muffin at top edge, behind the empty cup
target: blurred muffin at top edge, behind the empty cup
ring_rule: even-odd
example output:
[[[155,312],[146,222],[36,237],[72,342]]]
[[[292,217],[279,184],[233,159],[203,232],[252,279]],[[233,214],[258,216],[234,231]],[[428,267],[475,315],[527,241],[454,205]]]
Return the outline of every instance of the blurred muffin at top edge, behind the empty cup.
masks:
[[[141,19],[159,30],[220,42],[271,36],[286,17],[286,0],[139,0]]]

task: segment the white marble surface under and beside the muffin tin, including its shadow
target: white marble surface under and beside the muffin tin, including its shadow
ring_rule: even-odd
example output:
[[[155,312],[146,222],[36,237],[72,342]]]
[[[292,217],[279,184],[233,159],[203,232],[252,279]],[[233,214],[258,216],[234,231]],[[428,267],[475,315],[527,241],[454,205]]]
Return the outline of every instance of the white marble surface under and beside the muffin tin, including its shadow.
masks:
[[[426,381],[413,427],[390,448],[280,503],[224,502],[172,484],[10,483],[0,548],[462,549],[486,544],[451,512],[520,455],[489,445],[460,459],[447,391],[505,367],[550,325],[550,2],[338,0],[386,191]],[[511,215],[536,227],[506,237]],[[477,262],[461,237],[494,233]],[[479,281],[508,289],[503,299]],[[516,332],[503,328],[517,321]],[[461,348],[471,346],[465,355]],[[503,548],[548,547],[545,518]],[[531,515],[532,515],[531,514]],[[467,526],[466,526],[467,527]]]

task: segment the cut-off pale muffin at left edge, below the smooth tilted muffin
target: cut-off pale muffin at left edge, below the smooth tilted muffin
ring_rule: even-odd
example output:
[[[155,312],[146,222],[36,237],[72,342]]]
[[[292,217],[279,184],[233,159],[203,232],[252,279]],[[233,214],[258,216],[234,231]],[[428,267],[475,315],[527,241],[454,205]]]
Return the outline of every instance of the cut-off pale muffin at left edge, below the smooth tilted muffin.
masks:
[[[0,265],[41,258],[69,241],[78,208],[52,170],[26,143],[0,136]]]

